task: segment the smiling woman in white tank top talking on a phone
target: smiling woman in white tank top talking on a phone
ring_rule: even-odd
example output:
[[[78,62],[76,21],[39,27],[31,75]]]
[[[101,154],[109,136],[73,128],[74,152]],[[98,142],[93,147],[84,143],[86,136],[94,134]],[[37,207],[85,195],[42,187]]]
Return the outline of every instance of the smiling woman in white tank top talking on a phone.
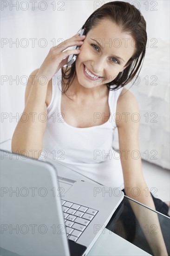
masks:
[[[30,157],[39,158],[43,147],[51,153],[53,149],[55,153],[61,149],[61,155],[64,149],[65,162],[80,168],[86,166],[88,171],[87,166],[96,163],[95,149],[105,152],[111,149],[113,129],[117,126],[125,194],[168,215],[165,203],[146,196],[141,158],[130,157],[132,151],[140,152],[139,121],[124,115],[139,115],[137,101],[124,85],[134,78],[144,59],[147,42],[144,17],[129,3],[114,1],[94,11],[82,28],[86,32],[84,37],[76,34],[52,47],[40,68],[30,75],[24,109],[29,119],[18,122],[12,138],[12,151],[26,150]],[[72,46],[80,46],[80,50],[66,50]],[[63,66],[71,54],[77,54],[77,59],[65,70]],[[52,83],[52,78],[59,78],[61,70],[62,83]],[[48,115],[47,121],[39,118],[41,113]],[[58,120],[53,115],[56,113]],[[105,114],[107,118],[96,113]],[[115,113],[119,115],[110,120]],[[108,161],[109,158],[105,161],[103,155],[97,159],[103,166]],[[134,188],[140,191],[139,195],[132,193]],[[158,248],[152,248],[155,255],[166,255],[163,237],[157,240]]]

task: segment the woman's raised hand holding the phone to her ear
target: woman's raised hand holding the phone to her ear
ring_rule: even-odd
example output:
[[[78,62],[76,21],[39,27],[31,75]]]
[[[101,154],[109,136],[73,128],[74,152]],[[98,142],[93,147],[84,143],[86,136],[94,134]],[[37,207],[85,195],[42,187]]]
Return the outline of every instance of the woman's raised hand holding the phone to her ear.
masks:
[[[80,53],[76,49],[64,50],[72,46],[81,46],[84,39],[85,36],[80,37],[79,34],[76,34],[59,45],[52,47],[46,56],[46,59],[40,66],[37,76],[44,75],[46,76],[47,81],[50,81],[52,76],[56,74],[61,67],[67,64],[69,55]]]

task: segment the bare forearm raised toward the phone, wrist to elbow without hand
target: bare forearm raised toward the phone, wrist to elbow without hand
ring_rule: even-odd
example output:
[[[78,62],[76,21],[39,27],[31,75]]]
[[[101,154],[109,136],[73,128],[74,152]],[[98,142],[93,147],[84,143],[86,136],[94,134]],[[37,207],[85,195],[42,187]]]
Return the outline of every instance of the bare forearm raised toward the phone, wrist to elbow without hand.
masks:
[[[43,135],[46,129],[46,121],[43,120],[46,120],[47,116],[46,93],[49,84],[49,81],[42,84],[44,81],[38,79],[40,76],[38,71],[39,69],[34,70],[29,76],[25,92],[25,108],[12,137],[13,153],[37,159],[39,151],[43,148]],[[26,151],[22,152],[22,150]]]

